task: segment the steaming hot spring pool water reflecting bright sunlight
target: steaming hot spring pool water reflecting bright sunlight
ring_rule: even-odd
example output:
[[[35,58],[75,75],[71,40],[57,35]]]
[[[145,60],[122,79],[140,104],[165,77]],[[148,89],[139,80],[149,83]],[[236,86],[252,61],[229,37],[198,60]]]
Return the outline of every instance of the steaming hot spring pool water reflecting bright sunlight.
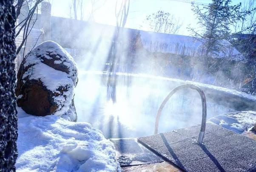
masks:
[[[74,99],[77,121],[91,123],[94,128],[101,130],[106,138],[152,135],[160,104],[174,87],[183,82],[120,74],[116,85],[117,101],[112,103],[107,96],[104,81],[107,75],[102,75],[101,72],[80,72],[78,78]],[[219,92],[216,88],[209,92],[214,90]],[[228,91],[232,94],[230,98],[233,98],[233,91]],[[236,94],[239,93],[235,91],[234,95],[237,96]],[[222,93],[217,96],[222,97]],[[211,99],[212,97],[206,94],[207,119],[237,111],[236,105],[233,107],[225,101]],[[159,121],[159,133],[197,125],[201,123],[201,119],[202,104],[199,94],[195,90],[184,89],[174,94],[165,105]]]

